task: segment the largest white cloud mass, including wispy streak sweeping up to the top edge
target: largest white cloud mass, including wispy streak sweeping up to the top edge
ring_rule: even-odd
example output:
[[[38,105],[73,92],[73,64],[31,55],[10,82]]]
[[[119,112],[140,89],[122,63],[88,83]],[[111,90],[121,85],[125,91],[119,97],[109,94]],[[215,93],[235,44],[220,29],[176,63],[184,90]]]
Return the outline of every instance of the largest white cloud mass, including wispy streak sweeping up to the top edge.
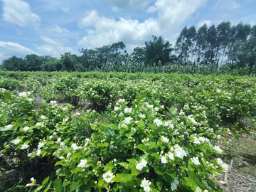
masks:
[[[96,48],[112,44],[117,41],[124,41],[127,47],[132,45],[144,45],[149,41],[151,36],[168,36],[176,33],[186,19],[193,14],[199,6],[206,3],[207,0],[157,0],[153,6],[149,6],[149,1],[143,1],[140,4],[148,4],[147,11],[158,11],[159,18],[148,18],[144,21],[138,21],[131,18],[106,18],[100,16],[97,11],[93,10],[86,13],[84,18],[78,22],[80,28],[85,28],[86,36],[80,38],[78,45],[87,48]],[[112,2],[118,5],[117,1]],[[132,4],[135,1],[125,1],[126,4]],[[139,2],[139,1],[138,1]],[[150,8],[151,7],[151,8]],[[168,39],[166,39],[168,40]],[[129,44],[128,44],[128,43]]]

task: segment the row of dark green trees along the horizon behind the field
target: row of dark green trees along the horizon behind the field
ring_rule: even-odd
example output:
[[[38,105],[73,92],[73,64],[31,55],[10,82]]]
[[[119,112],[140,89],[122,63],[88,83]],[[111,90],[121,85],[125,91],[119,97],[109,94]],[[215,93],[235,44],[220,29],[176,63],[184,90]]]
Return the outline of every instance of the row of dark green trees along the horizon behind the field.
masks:
[[[186,26],[178,36],[174,47],[162,36],[152,36],[144,47],[134,48],[131,55],[122,41],[95,49],[81,48],[82,55],[60,54],[60,58],[50,55],[26,55],[25,58],[12,56],[3,60],[1,70],[21,71],[88,71],[102,68],[102,65],[210,65],[223,64],[233,68],[252,68],[256,63],[256,26],[238,23],[231,26],[223,21],[218,26],[204,24],[198,30]]]

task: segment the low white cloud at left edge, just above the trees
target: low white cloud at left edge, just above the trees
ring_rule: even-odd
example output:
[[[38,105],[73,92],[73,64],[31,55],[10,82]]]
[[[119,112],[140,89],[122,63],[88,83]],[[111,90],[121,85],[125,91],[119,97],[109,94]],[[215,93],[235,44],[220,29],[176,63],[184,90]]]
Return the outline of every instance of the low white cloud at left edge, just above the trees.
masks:
[[[18,43],[0,41],[0,48],[4,48],[5,54],[22,53],[22,54],[36,54],[33,50],[25,48]]]

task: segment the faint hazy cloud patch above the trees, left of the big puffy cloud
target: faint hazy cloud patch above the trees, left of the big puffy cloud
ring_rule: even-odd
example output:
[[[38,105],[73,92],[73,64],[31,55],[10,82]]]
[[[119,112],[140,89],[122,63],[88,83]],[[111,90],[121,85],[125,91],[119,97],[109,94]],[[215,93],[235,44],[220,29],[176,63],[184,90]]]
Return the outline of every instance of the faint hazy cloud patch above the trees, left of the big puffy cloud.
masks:
[[[38,46],[34,44],[34,46],[36,46],[36,49],[39,50],[41,54],[59,57],[60,53],[67,53],[67,52],[75,53],[75,51],[72,48],[64,46],[66,43],[69,43],[67,39],[56,38],[55,40],[53,40],[46,36],[41,36],[41,39],[43,39],[43,41],[46,44],[42,46]]]

